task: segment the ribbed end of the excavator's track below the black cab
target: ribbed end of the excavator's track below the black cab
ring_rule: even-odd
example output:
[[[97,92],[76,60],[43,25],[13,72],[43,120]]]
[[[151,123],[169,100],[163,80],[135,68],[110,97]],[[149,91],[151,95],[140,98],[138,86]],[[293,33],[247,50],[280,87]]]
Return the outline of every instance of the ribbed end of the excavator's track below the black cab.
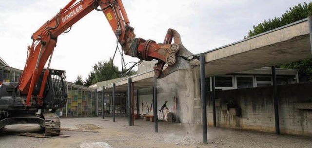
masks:
[[[43,113],[45,120],[44,136],[59,136],[60,134],[60,119],[55,113]]]

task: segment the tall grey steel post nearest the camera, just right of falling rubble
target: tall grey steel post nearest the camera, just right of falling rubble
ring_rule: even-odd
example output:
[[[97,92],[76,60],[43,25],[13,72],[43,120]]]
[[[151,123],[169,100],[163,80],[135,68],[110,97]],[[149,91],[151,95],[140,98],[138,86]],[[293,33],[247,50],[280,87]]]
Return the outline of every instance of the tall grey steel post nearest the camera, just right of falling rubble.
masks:
[[[205,88],[205,55],[200,54],[200,88],[201,88],[201,114],[203,121],[203,143],[207,144],[207,110],[206,110],[206,88]]]

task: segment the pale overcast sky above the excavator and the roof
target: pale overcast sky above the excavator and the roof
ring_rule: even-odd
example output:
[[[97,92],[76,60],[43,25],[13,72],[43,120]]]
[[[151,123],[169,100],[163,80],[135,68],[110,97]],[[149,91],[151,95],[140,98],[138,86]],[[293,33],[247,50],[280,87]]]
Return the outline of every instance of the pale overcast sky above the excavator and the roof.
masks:
[[[31,35],[70,0],[0,0],[0,57],[23,69]],[[175,29],[193,54],[203,53],[248,35],[253,25],[281,17],[304,0],[123,0],[136,37],[162,43]],[[51,68],[65,70],[67,81],[88,77],[98,61],[113,57],[116,37],[104,14],[92,11],[58,37]],[[126,62],[137,58],[125,56]],[[121,68],[120,56],[114,64]]]

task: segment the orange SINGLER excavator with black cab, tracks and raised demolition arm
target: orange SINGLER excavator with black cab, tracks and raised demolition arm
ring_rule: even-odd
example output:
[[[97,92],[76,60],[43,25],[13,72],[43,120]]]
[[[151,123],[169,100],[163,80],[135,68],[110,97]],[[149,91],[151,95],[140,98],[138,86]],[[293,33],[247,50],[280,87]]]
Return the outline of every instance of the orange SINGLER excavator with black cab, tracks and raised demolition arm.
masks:
[[[60,120],[55,112],[65,106],[67,93],[64,71],[50,69],[51,58],[58,36],[93,10],[104,13],[125,55],[145,61],[158,60],[154,67],[156,78],[189,68],[192,53],[184,48],[175,30],[168,29],[162,44],[136,38],[121,0],[71,0],[31,36],[33,43],[28,46],[18,85],[0,86],[0,129],[12,124],[36,123],[46,136],[59,135]],[[171,43],[173,39],[175,43]],[[168,66],[163,70],[165,64]]]

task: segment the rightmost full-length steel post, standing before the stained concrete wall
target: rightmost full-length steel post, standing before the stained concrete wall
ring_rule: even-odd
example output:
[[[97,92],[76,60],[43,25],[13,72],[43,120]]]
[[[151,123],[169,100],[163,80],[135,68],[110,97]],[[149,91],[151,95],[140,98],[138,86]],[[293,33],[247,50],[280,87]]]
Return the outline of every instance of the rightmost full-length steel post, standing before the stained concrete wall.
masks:
[[[278,116],[278,95],[277,95],[277,86],[276,86],[276,73],[275,66],[272,66],[272,80],[273,80],[273,103],[274,103],[274,118],[275,118],[275,133],[280,134],[279,132],[279,116]]]

